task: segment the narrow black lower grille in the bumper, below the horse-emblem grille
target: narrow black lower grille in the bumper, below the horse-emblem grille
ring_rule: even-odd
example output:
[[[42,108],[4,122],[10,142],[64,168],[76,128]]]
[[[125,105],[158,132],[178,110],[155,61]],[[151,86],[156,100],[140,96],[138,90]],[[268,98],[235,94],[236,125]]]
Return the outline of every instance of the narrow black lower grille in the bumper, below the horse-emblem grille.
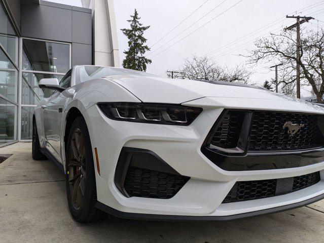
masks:
[[[312,186],[320,181],[319,172],[293,178],[260,181],[239,181],[225,197],[223,203],[233,203],[287,194]]]

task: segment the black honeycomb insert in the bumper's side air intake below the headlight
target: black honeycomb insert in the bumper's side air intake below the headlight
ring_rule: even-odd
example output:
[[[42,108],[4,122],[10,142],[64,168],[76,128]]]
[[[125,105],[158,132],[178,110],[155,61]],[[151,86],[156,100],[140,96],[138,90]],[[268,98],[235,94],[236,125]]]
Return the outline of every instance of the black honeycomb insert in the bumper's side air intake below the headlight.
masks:
[[[173,197],[189,177],[129,167],[124,188],[129,196],[168,199]]]

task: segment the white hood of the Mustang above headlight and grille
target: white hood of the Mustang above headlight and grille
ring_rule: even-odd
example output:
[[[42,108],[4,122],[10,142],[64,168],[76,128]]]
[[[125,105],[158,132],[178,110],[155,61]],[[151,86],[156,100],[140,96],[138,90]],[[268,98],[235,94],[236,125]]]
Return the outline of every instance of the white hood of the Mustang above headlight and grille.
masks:
[[[181,104],[203,97],[248,98],[265,100],[296,100],[253,86],[227,82],[202,82],[189,79],[142,77],[119,75],[109,76],[142,102]],[[304,102],[304,101],[300,101]]]

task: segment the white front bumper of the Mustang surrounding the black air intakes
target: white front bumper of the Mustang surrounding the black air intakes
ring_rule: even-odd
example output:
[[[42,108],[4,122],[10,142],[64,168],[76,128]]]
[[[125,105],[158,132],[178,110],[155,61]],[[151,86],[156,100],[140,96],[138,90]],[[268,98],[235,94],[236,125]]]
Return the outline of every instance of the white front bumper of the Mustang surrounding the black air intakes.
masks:
[[[111,211],[120,217],[151,215],[148,218],[169,219],[176,216],[175,219],[189,217],[187,220],[194,220],[195,217],[203,217],[201,220],[204,217],[232,219],[301,207],[322,198],[323,179],[313,186],[285,195],[222,204],[237,181],[295,177],[317,171],[324,178],[324,162],[278,170],[220,169],[202,154],[200,148],[222,111],[223,108],[206,108],[190,126],[178,127],[111,120],[96,105],[90,107],[84,117],[92,148],[96,147],[99,155],[100,175],[96,173],[98,207],[103,209],[102,205],[105,205],[109,208],[105,207],[104,211]],[[169,199],[126,197],[114,182],[117,161],[123,147],[151,150],[179,174],[191,179]]]

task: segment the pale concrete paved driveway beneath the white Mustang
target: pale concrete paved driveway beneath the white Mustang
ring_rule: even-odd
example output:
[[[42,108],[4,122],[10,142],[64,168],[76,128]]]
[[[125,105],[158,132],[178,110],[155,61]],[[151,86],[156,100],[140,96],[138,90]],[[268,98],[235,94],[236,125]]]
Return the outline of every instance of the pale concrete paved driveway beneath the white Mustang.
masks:
[[[110,217],[80,224],[68,212],[64,176],[31,158],[30,143],[0,148],[0,242],[324,242],[324,201],[227,222],[151,222]]]

